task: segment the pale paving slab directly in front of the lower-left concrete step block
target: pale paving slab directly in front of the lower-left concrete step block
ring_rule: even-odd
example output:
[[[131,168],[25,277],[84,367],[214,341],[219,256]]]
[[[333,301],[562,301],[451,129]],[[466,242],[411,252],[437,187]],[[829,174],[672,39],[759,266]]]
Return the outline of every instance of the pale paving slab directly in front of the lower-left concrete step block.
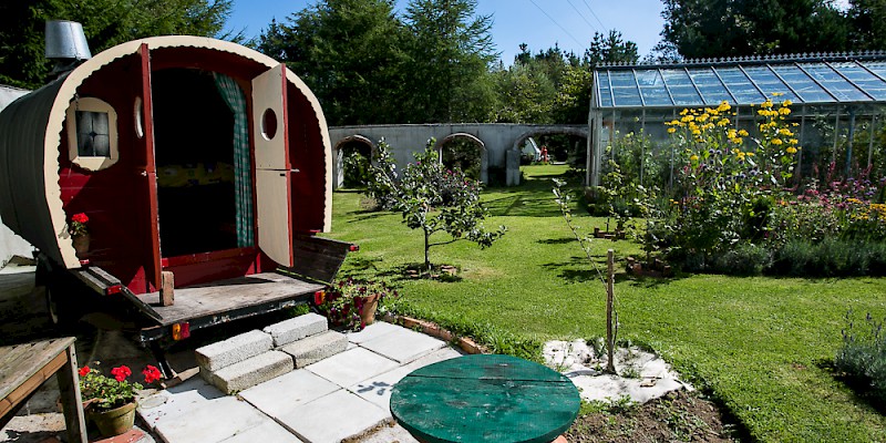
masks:
[[[280,416],[293,409],[341,389],[336,383],[308,370],[298,369],[286,375],[240,392],[240,396],[261,412]],[[269,443],[272,441],[268,441]]]

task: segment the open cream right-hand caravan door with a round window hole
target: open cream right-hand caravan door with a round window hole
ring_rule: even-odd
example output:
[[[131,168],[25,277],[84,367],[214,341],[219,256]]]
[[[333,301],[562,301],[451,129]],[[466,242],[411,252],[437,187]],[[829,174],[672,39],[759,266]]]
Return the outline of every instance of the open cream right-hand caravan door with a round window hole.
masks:
[[[279,265],[295,265],[292,254],[292,167],[286,100],[286,65],[253,79],[256,128],[258,247]]]

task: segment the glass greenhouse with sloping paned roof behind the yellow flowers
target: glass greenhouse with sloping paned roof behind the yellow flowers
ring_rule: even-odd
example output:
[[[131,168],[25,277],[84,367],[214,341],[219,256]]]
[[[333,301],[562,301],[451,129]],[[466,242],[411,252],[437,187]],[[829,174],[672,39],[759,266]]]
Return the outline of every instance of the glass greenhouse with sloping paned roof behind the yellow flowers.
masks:
[[[668,185],[673,144],[667,122],[683,110],[727,102],[731,127],[753,140],[767,99],[790,105],[786,119],[802,147],[796,183],[825,171],[843,177],[886,172],[886,52],[817,53],[597,66],[586,183],[599,186],[611,158],[636,163],[641,179],[643,167],[656,167],[658,182]]]

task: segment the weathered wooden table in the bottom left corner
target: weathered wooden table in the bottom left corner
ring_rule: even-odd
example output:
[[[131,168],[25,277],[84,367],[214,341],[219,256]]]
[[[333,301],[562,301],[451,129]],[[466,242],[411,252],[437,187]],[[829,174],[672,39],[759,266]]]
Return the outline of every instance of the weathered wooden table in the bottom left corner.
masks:
[[[59,379],[69,442],[86,443],[74,338],[0,347],[0,427],[52,374]]]

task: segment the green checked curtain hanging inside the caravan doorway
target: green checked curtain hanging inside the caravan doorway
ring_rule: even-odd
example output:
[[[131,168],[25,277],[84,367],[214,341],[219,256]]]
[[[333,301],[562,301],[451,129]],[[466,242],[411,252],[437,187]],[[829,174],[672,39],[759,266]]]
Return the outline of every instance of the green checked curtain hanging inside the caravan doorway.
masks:
[[[237,246],[255,244],[253,226],[253,175],[249,163],[249,122],[246,115],[246,96],[237,82],[215,73],[215,85],[230,112],[234,113],[234,194],[237,203]]]

